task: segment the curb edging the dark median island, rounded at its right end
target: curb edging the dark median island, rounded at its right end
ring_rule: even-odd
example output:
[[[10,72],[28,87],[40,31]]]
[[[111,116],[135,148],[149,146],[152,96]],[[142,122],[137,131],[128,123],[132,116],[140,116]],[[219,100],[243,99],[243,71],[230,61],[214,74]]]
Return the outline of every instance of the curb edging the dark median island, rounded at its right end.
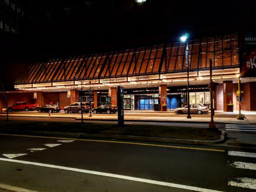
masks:
[[[225,140],[225,131],[221,131],[220,139],[214,141],[202,141],[202,140],[188,140],[188,139],[170,139],[161,137],[144,137],[134,135],[114,135],[114,134],[89,134],[81,132],[49,132],[49,131],[31,131],[22,130],[22,133],[39,134],[39,135],[51,135],[51,136],[70,136],[74,138],[100,138],[100,139],[124,139],[124,140],[136,140],[136,141],[149,141],[149,142],[163,142],[163,143],[177,143],[177,144],[220,144]],[[7,134],[19,134],[21,130],[0,130],[1,133]]]

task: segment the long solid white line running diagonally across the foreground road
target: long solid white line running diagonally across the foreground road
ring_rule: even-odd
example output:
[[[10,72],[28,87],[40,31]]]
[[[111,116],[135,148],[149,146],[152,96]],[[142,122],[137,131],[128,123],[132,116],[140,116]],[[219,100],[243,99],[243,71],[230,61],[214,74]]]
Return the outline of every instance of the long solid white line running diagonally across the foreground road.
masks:
[[[44,163],[21,161],[21,160],[15,160],[15,159],[7,159],[7,158],[0,158],[0,161],[22,163],[22,164],[35,165],[35,166],[47,167],[47,168],[58,168],[58,169],[63,169],[63,170],[68,170],[68,171],[75,171],[75,172],[87,173],[87,174],[92,174],[92,175],[100,175],[100,176],[105,176],[105,177],[118,178],[118,179],[122,179],[122,180],[133,180],[133,181],[137,181],[137,182],[150,183],[150,184],[162,185],[162,186],[179,188],[179,189],[186,189],[186,190],[191,190],[191,191],[196,191],[196,192],[220,192],[220,191],[216,191],[216,190],[204,189],[204,188],[193,187],[193,186],[188,186],[188,185],[180,185],[180,184],[176,184],[176,183],[162,182],[162,181],[157,181],[157,180],[147,180],[147,179],[142,179],[142,178],[117,175],[117,174],[112,174],[112,173],[104,173],[104,172],[91,171],[91,170],[85,170],[85,169],[79,169],[79,168],[68,168],[68,167],[49,165],[49,164],[44,164]]]

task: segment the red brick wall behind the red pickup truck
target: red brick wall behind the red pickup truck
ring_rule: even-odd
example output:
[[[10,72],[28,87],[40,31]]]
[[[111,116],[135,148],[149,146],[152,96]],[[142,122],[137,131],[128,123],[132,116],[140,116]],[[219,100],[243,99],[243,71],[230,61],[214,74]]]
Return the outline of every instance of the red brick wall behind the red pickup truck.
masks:
[[[7,101],[8,105],[13,105],[16,102],[27,102],[28,104],[36,104],[36,99],[33,98],[34,93],[8,93]],[[4,97],[0,94],[0,111],[2,108],[6,108]]]

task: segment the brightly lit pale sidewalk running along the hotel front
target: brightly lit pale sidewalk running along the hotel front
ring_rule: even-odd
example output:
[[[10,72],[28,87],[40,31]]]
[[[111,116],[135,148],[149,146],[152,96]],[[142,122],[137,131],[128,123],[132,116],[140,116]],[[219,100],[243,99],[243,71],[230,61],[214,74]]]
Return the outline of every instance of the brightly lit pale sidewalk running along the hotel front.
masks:
[[[0,116],[6,116],[6,114],[0,114]],[[63,115],[58,115],[58,113],[52,113],[51,116],[46,114],[40,113],[40,115],[37,114],[9,114],[10,117],[37,117],[37,118],[74,118],[77,120],[81,120],[81,115],[80,114],[75,114],[75,115],[68,115],[68,116],[63,116]],[[102,116],[92,116],[88,117],[88,114],[84,114],[84,119],[85,120],[117,120],[117,115],[116,116],[110,116],[110,115],[102,115]],[[193,117],[192,119],[187,119],[186,117],[161,117],[161,116],[156,116],[156,117],[146,117],[146,116],[125,116],[124,115],[124,120],[127,121],[164,121],[164,122],[191,122],[191,123],[204,123],[204,122],[209,122],[210,117]],[[250,123],[255,123],[256,118],[255,117],[250,117],[249,119],[244,119],[244,120],[237,120],[236,118],[214,118],[216,123],[230,123],[230,124],[250,124]]]

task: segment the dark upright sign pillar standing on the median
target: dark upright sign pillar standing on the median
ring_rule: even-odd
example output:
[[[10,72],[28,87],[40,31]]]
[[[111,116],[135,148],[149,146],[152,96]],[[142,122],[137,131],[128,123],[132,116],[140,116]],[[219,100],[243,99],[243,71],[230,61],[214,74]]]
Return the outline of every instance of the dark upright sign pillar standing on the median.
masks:
[[[118,126],[124,126],[123,116],[123,87],[117,86],[117,112],[118,112]]]

